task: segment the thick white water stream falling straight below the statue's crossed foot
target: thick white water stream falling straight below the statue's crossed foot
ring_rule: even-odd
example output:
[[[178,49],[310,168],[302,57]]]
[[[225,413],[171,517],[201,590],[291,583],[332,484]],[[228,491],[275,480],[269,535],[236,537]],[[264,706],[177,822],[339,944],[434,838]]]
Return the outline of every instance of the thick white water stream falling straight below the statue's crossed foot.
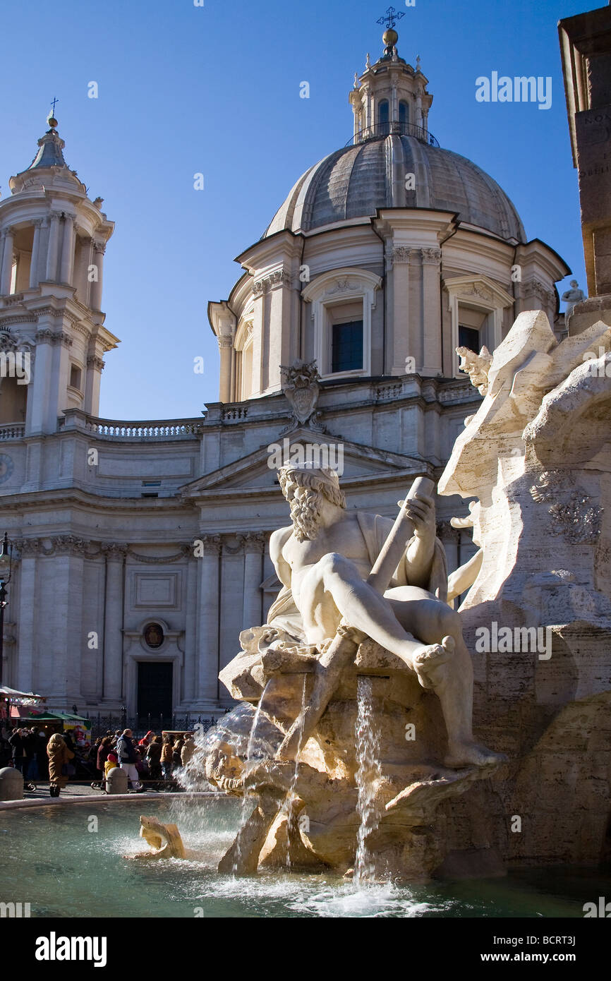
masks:
[[[375,866],[368,847],[368,838],[380,823],[376,806],[376,791],[382,778],[380,766],[380,734],[374,728],[373,681],[359,675],[357,679],[357,716],[354,727],[356,742],[357,813],[360,818],[357,835],[353,883],[357,889],[371,883]]]

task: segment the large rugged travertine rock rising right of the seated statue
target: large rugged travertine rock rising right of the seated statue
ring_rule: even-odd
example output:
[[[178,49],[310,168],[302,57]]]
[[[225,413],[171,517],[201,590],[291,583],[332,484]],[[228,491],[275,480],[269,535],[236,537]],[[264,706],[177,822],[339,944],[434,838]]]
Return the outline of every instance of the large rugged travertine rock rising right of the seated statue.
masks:
[[[480,836],[535,864],[608,848],[610,348],[603,323],[558,343],[543,313],[521,314],[439,481],[479,498],[482,554],[460,610],[478,733],[510,757],[479,808],[446,809],[450,849]]]

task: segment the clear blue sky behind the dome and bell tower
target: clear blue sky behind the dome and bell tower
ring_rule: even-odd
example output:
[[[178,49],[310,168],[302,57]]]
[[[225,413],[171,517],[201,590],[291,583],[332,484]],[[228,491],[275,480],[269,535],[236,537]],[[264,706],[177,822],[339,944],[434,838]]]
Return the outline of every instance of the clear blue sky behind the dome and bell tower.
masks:
[[[206,316],[292,184],[352,135],[355,71],[382,54],[386,0],[28,0],[4,4],[2,196],[29,165],[50,101],[66,160],[117,223],[105,259],[100,415],[198,416],[218,399]],[[556,24],[579,0],[394,6],[401,57],[430,79],[429,125],[509,194],[586,288]],[[0,8],[1,10],[2,8]],[[480,103],[476,78],[552,77],[552,105]],[[300,82],[310,98],[299,97]],[[98,98],[87,97],[90,81]],[[205,189],[193,189],[193,175]],[[568,280],[566,281],[568,284]],[[203,375],[193,359],[203,356]]]

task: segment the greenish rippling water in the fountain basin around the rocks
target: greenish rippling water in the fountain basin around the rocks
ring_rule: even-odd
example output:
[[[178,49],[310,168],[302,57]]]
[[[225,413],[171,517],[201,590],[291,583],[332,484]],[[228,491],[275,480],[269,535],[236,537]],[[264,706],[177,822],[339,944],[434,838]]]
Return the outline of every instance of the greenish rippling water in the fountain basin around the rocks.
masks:
[[[2,809],[3,901],[29,903],[32,917],[64,918],[583,917],[592,896],[611,894],[608,877],[568,867],[360,890],[331,872],[235,879],[216,868],[239,825],[238,799],[157,796],[143,806],[142,798]],[[178,825],[186,859],[123,857],[146,849],[138,838],[142,812]]]

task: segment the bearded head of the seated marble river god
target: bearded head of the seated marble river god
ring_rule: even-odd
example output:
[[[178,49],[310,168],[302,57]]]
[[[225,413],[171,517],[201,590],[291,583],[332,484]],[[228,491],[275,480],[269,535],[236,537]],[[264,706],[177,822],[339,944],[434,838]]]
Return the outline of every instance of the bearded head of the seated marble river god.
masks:
[[[325,498],[336,507],[346,506],[334,470],[288,465],[281,467],[278,475],[297,542],[313,541],[318,535]]]

